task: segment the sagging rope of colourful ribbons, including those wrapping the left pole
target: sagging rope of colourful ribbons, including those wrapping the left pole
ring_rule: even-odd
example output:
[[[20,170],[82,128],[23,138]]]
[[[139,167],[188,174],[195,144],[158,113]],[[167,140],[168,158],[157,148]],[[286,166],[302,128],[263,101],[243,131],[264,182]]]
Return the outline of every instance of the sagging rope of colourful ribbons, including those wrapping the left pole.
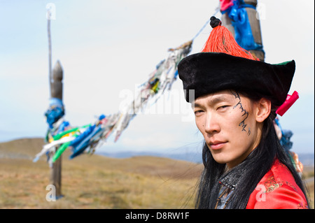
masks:
[[[218,13],[216,8],[216,13]],[[155,70],[149,75],[148,80],[140,86],[139,94],[136,98],[126,103],[118,113],[111,115],[99,115],[93,123],[86,124],[82,127],[71,127],[69,122],[64,120],[64,105],[60,99],[50,99],[50,105],[45,112],[48,131],[45,136],[45,144],[41,152],[36,154],[34,162],[46,154],[47,161],[52,166],[61,154],[68,148],[72,154],[69,159],[73,159],[86,152],[93,154],[97,147],[106,142],[112,134],[115,135],[114,141],[118,141],[123,131],[128,127],[131,120],[142,110],[148,101],[154,99],[158,101],[165,90],[171,90],[174,81],[177,79],[177,64],[189,55],[192,50],[193,41],[200,35],[202,30],[209,23],[197,32],[192,40],[179,45],[177,48],[170,48],[169,55],[163,59]]]

